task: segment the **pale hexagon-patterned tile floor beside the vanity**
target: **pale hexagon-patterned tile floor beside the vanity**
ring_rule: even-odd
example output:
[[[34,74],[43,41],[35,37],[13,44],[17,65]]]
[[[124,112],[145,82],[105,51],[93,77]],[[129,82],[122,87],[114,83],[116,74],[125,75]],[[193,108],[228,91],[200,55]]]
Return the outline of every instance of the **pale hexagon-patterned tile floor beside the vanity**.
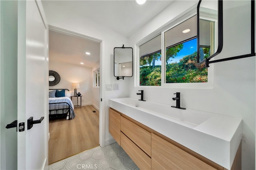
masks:
[[[49,170],[139,170],[116,142],[86,150],[49,165]]]

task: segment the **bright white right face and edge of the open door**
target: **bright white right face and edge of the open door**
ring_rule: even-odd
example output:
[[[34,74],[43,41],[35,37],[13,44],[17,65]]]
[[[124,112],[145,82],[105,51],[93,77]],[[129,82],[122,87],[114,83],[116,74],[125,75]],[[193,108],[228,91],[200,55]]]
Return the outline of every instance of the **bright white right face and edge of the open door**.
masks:
[[[18,169],[48,164],[48,27],[40,1],[18,1]],[[39,120],[28,130],[27,120]]]

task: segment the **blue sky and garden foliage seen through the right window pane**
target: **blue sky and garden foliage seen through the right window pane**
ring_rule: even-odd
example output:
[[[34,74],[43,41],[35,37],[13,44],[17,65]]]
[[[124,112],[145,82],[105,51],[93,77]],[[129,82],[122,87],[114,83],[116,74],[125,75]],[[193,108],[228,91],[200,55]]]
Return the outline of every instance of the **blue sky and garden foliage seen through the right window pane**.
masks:
[[[208,81],[204,65],[197,65],[197,39],[166,48],[166,83],[198,83]]]

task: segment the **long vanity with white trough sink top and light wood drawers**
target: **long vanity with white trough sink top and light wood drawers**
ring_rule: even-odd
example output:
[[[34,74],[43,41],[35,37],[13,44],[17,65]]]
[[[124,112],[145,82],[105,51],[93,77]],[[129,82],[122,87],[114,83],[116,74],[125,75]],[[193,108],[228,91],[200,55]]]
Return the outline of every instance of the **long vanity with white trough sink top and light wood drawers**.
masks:
[[[241,119],[133,98],[109,106],[109,132],[140,169],[241,169]]]

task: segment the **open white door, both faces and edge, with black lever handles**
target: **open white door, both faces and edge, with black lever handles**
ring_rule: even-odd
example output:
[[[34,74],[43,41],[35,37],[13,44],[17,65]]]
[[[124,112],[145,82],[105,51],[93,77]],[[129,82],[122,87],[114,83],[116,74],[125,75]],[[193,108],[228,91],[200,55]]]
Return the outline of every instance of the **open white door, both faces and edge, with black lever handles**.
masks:
[[[2,21],[2,17],[8,15],[2,11],[2,4],[1,1],[0,36],[3,36],[2,26],[6,24],[6,22]],[[1,169],[39,170],[48,165],[48,26],[40,1],[14,1],[12,5],[16,6],[17,9],[16,12],[13,12],[14,14],[9,12],[14,16],[17,13],[17,35],[12,40],[14,45],[6,45],[6,42],[2,41],[1,37],[0,166]],[[14,29],[13,32],[15,33],[14,23],[15,21],[9,26],[9,29]],[[12,28],[12,26],[14,27]],[[8,26],[6,26],[6,32],[8,32],[7,28]],[[5,40],[8,40],[8,38]],[[11,50],[4,49],[6,55],[2,55],[3,47],[16,51],[16,59]],[[8,53],[13,55],[10,56]],[[14,61],[5,63],[4,61],[8,57],[13,57]],[[5,72],[2,66],[6,64],[9,64],[6,68],[9,68],[11,72],[14,70],[13,77],[2,77]],[[9,74],[7,73],[7,75]],[[13,80],[12,82],[9,81],[9,84],[3,82],[8,79]],[[9,91],[6,91],[8,86],[13,89],[10,90],[9,88]],[[10,103],[6,103],[5,98]],[[18,132],[16,132],[16,128],[5,129],[5,126],[12,122],[4,119],[7,115],[16,116],[18,125],[24,123],[24,130],[20,131],[19,127]],[[28,119],[30,117],[33,117],[34,121],[42,117],[44,119],[41,123],[34,124],[31,129],[28,129]],[[16,138],[9,135],[11,132],[16,134]],[[5,144],[2,143],[2,136],[4,136]],[[10,138],[15,140],[12,142],[12,146],[7,144],[8,141],[12,141]],[[10,147],[3,150],[4,146],[7,145]],[[10,148],[12,149],[11,152],[8,150]],[[4,151],[3,153],[2,150]],[[11,158],[12,156],[14,158]]]

